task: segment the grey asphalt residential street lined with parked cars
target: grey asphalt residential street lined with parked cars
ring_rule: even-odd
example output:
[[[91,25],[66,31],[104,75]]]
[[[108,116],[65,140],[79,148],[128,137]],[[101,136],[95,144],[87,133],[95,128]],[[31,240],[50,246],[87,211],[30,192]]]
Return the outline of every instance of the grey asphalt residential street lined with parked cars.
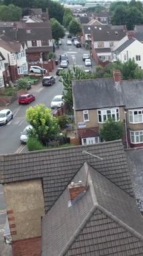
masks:
[[[76,46],[68,46],[66,45],[67,36],[61,40],[62,45],[59,49],[56,49],[57,58],[61,53],[67,53],[69,59],[68,67],[73,67],[73,65],[84,69],[89,69],[85,67],[85,63],[83,62],[83,53],[89,53],[84,48],[77,48]],[[58,67],[58,66],[57,66]],[[91,67],[92,70],[95,69],[95,66]],[[35,102],[32,102],[30,105],[19,105],[18,102],[13,102],[7,108],[12,110],[13,112],[13,120],[10,121],[7,125],[3,125],[0,127],[0,154],[10,154],[10,153],[21,153],[26,152],[27,148],[25,145],[21,145],[19,138],[21,135],[21,131],[28,125],[26,122],[26,109],[30,106],[34,106],[39,103],[46,104],[47,107],[50,108],[50,102],[52,98],[58,94],[62,94],[63,86],[59,81],[60,77],[56,75],[56,69],[50,75],[54,75],[56,77],[56,83],[53,86],[42,87],[42,83],[40,82],[36,86],[32,86],[32,90],[30,92],[36,96]],[[1,107],[2,109],[2,107]],[[1,256],[11,256],[9,245],[4,246],[3,243],[3,228],[5,225],[5,200],[3,197],[3,187],[0,185],[0,255]]]

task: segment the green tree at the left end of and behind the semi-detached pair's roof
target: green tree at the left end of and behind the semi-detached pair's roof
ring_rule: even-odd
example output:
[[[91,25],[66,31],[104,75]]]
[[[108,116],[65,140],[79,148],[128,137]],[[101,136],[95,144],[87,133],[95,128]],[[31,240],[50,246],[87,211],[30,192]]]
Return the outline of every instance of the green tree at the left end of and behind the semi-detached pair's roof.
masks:
[[[62,83],[64,86],[64,100],[69,108],[72,110],[73,108],[73,92],[72,92],[72,81],[73,80],[81,80],[81,79],[89,79],[95,78],[96,74],[88,74],[79,67],[73,67],[73,69],[68,69],[68,71],[61,72],[62,75]]]

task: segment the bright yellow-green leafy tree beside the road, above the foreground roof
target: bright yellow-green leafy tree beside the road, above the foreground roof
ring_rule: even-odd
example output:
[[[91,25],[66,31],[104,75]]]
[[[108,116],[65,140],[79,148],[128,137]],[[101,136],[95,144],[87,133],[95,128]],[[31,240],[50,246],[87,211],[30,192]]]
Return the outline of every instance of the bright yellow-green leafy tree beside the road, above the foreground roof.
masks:
[[[58,119],[51,115],[50,108],[46,108],[44,104],[28,108],[26,110],[26,119],[33,127],[30,137],[35,137],[44,146],[58,137],[60,131]]]

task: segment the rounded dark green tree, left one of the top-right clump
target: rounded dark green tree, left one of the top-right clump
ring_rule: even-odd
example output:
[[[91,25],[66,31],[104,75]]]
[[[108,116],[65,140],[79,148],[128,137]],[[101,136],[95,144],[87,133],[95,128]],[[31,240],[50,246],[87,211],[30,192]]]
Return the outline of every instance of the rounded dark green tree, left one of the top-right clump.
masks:
[[[125,25],[127,14],[128,10],[125,8],[124,5],[118,6],[114,11],[113,16],[111,17],[111,24]]]

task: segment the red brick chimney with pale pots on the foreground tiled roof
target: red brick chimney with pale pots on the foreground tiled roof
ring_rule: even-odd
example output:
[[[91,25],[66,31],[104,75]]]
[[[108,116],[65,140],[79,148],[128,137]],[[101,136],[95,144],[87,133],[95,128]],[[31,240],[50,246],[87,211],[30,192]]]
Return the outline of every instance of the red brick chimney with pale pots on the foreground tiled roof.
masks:
[[[70,185],[68,185],[68,191],[70,193],[70,200],[73,201],[75,200],[77,197],[79,197],[79,195],[81,195],[83,192],[86,191],[86,187],[84,185],[84,183],[82,181],[79,181],[79,183],[70,183]]]

